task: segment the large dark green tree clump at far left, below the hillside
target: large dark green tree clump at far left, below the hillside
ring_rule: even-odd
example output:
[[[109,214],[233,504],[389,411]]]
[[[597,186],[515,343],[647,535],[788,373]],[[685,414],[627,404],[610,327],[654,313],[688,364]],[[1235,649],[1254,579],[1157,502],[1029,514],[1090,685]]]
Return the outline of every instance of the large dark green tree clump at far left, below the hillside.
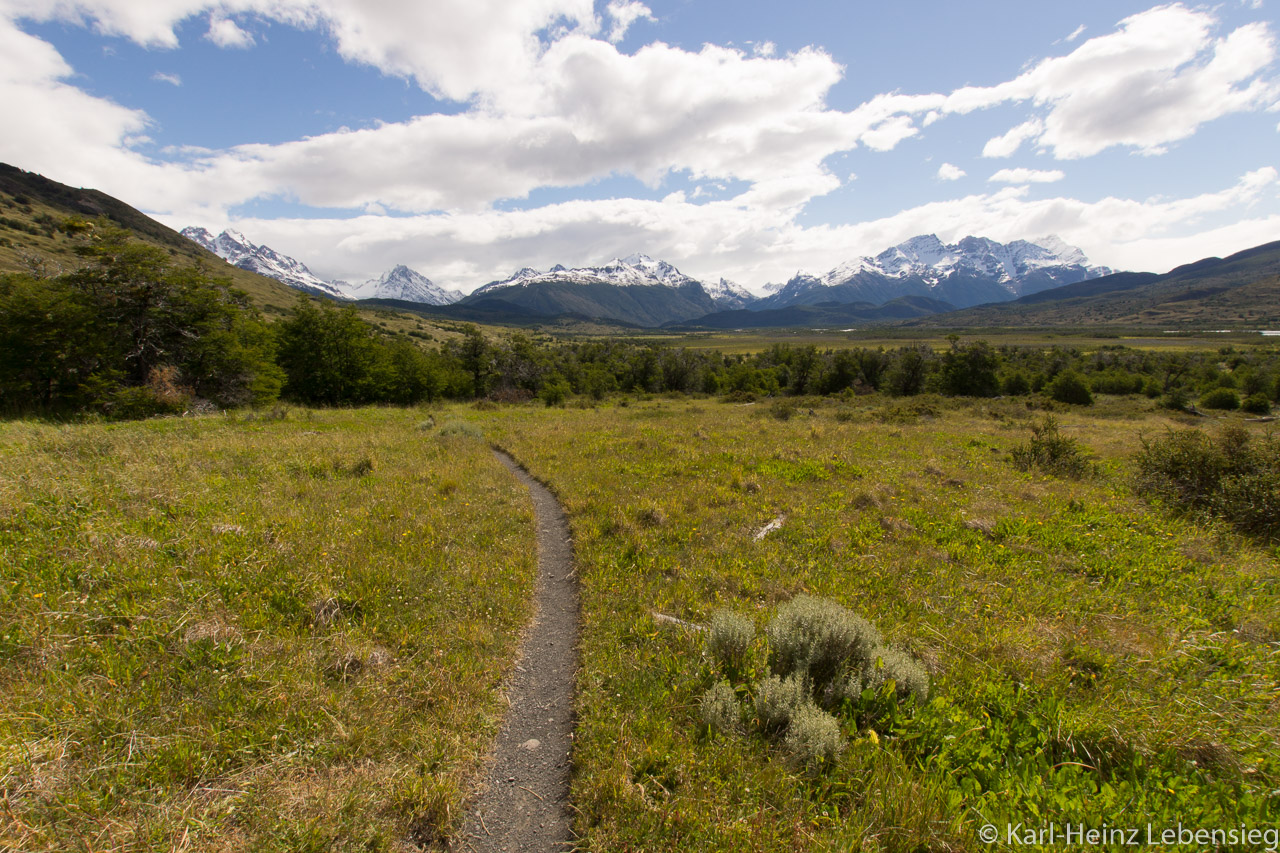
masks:
[[[96,225],[87,263],[0,283],[0,392],[13,412],[137,416],[274,400],[273,338],[247,297],[169,252]]]

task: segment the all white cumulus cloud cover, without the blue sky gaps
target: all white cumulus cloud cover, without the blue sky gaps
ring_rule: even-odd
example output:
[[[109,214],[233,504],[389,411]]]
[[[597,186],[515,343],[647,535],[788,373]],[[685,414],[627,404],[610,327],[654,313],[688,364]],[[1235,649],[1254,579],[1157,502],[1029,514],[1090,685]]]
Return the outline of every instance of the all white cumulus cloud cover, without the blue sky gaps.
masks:
[[[608,35],[632,12],[627,23],[640,19],[639,6],[608,6]],[[200,15],[210,15],[215,42],[219,22],[244,33],[233,20],[244,15],[323,31],[348,61],[411,78],[463,109],[164,161],[143,154],[143,113],[72,86],[73,69],[58,51],[12,23],[59,17],[174,47],[177,24]],[[1009,156],[1034,142],[1070,159],[1115,146],[1157,151],[1213,118],[1275,104],[1280,93],[1263,77],[1275,56],[1270,29],[1249,24],[1220,35],[1216,27],[1210,12],[1160,6],[997,86],[886,93],[837,110],[827,95],[844,69],[822,50],[652,44],[627,55],[598,37],[591,0],[430,8],[413,0],[0,0],[0,99],[24,117],[0,136],[0,159],[168,211],[175,225],[227,224],[228,209],[271,196],[367,210],[355,219],[239,223],[256,241],[352,280],[380,273],[396,256],[472,288],[526,263],[604,260],[639,246],[692,274],[763,283],[928,232],[945,240],[1059,233],[1100,263],[1135,266],[1117,263],[1108,247],[1138,246],[1132,254],[1139,257],[1140,246],[1192,233],[1215,210],[1274,193],[1275,170],[1188,200],[1029,200],[1025,187],[1012,186],[858,225],[800,225],[797,214],[841,184],[828,168],[832,155],[893,149],[947,115],[1024,105],[1028,113],[983,154]],[[225,33],[236,46],[234,33]],[[616,174],[657,188],[672,173],[746,186],[700,204],[671,193],[524,211],[493,206]]]

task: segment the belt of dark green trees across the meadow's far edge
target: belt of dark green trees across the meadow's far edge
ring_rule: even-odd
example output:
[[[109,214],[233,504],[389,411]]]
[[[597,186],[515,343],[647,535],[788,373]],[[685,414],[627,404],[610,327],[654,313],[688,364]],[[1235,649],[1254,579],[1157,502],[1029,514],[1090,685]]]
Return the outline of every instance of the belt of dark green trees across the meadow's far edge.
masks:
[[[952,336],[923,346],[820,350],[774,345],[753,355],[623,339],[557,342],[512,333],[424,348],[352,306],[301,296],[266,323],[243,293],[161,248],[108,227],[90,229],[69,274],[0,277],[0,411],[137,418],[227,409],[283,397],[307,405],[416,403],[614,393],[1144,394],[1181,409],[1266,412],[1280,396],[1280,351],[1143,351],[1123,346],[992,347]]]

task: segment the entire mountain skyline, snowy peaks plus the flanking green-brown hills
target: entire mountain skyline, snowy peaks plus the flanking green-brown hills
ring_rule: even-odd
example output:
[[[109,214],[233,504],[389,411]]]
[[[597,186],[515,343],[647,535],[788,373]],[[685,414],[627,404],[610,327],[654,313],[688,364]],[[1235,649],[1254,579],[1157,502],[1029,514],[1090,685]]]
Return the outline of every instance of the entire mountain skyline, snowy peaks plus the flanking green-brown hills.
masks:
[[[188,234],[195,232],[201,238],[197,243],[106,193],[69,187],[6,164],[0,164],[0,204],[8,211],[0,218],[0,270],[29,269],[32,259],[55,273],[73,269],[81,263],[74,241],[59,232],[56,223],[100,218],[127,228],[146,243],[168,248],[184,259],[180,263],[196,263],[204,256],[209,264],[212,259],[202,245],[211,245],[215,254],[220,247],[248,269],[227,265],[218,274],[274,314],[289,310],[296,288],[251,272],[253,268],[282,278],[292,275],[314,292],[335,292],[337,298],[367,298],[371,307],[480,323],[594,318],[616,324],[705,329],[873,324],[1280,328],[1280,242],[1228,257],[1207,257],[1157,275],[1102,274],[1108,270],[1092,266],[1083,254],[1055,238],[1001,245],[970,237],[947,246],[937,237],[922,236],[823,275],[796,275],[783,284],[767,286],[765,295],[758,298],[723,279],[716,284],[699,282],[671,264],[632,255],[602,266],[556,266],[545,273],[525,269],[457,304],[431,305],[429,300],[439,298],[431,289],[435,286],[403,266],[358,286],[325,282],[296,259],[253,246],[242,234],[214,237],[204,229],[188,229]],[[444,293],[442,301],[457,296]],[[987,295],[993,301],[973,305]]]

